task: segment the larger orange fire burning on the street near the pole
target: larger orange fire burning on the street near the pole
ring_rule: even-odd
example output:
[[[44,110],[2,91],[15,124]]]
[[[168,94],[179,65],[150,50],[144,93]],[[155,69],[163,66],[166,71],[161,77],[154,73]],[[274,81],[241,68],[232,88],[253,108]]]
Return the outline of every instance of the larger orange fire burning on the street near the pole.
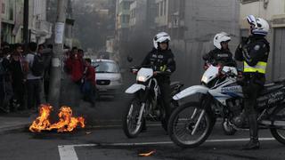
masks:
[[[59,122],[51,124],[50,114],[53,107],[50,105],[41,105],[39,109],[39,116],[37,119],[29,126],[30,132],[42,132],[57,130],[57,132],[72,132],[77,125],[85,128],[85,118],[82,116],[73,117],[72,109],[66,106],[61,107],[59,116]]]

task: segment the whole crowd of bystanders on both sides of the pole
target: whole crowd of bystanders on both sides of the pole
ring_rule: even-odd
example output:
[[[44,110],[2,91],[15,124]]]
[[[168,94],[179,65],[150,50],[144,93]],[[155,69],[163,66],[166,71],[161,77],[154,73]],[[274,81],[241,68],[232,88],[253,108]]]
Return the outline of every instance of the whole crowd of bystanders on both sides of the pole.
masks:
[[[0,112],[36,112],[48,102],[53,45],[31,42],[2,43],[0,49]],[[95,70],[84,51],[72,48],[66,52],[65,71],[79,85],[83,100],[94,106]]]

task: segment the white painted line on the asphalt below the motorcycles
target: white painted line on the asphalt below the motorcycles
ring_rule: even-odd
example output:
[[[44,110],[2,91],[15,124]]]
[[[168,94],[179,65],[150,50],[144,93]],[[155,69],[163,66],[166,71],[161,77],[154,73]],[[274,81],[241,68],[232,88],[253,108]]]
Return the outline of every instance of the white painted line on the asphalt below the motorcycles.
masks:
[[[206,140],[206,142],[236,142],[248,141],[249,139],[224,139],[224,140]],[[273,138],[259,138],[260,141],[275,140]],[[78,160],[75,147],[116,147],[116,146],[147,146],[147,145],[165,145],[173,144],[172,141],[157,141],[157,142],[138,142],[138,143],[102,143],[102,144],[77,144],[77,145],[62,145],[58,146],[61,160]]]

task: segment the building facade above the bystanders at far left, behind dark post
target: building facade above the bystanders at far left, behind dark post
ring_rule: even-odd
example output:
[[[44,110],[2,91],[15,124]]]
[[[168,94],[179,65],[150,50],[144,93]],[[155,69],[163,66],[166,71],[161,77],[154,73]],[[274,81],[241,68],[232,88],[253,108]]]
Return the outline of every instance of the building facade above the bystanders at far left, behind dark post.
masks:
[[[28,1],[29,40],[39,44],[52,34],[52,24],[46,21],[46,0]],[[1,40],[22,43],[24,0],[2,0]]]

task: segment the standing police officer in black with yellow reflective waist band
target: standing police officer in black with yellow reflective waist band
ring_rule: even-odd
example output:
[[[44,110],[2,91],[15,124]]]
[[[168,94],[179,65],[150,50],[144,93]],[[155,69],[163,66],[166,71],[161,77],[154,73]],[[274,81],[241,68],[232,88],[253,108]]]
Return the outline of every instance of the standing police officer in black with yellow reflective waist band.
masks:
[[[270,46],[265,36],[269,31],[269,25],[266,20],[255,18],[252,15],[249,15],[247,20],[250,25],[250,36],[238,46],[235,59],[243,61],[244,64],[242,91],[245,98],[244,107],[248,116],[250,141],[243,148],[257,149],[259,141],[256,98],[265,84],[265,70],[270,52]]]

